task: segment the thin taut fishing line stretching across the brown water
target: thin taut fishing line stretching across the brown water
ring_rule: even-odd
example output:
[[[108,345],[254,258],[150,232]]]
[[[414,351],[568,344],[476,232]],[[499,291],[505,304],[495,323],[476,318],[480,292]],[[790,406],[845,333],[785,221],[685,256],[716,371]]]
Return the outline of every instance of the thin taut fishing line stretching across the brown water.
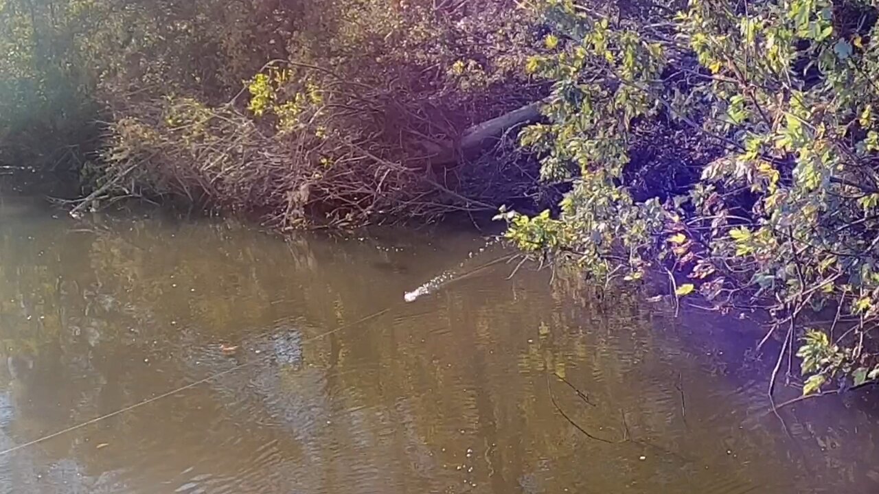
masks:
[[[432,291],[430,291],[429,293],[433,293],[433,292],[435,292],[435,291],[438,290],[440,287],[446,287],[446,286],[447,286],[449,283],[451,283],[452,281],[455,281],[455,280],[461,280],[461,279],[467,278],[467,277],[468,277],[469,275],[471,275],[471,274],[474,274],[474,273],[476,273],[476,272],[480,272],[480,271],[482,271],[483,269],[485,269],[485,268],[487,268],[487,267],[490,267],[491,265],[497,265],[497,264],[500,263],[501,261],[508,260],[509,258],[512,258],[512,256],[504,256],[504,257],[502,257],[502,258],[497,258],[497,259],[491,260],[491,261],[487,262],[487,263],[484,264],[484,265],[480,265],[480,266],[476,267],[475,269],[473,269],[473,270],[470,271],[470,272],[462,273],[460,276],[454,277],[454,278],[452,278],[451,280],[447,280],[447,281],[444,282],[444,283],[440,283],[437,287],[435,287],[435,288],[434,288]],[[407,300],[407,301],[408,301],[408,300]],[[367,321],[372,320],[372,319],[375,319],[376,317],[384,316],[384,315],[387,314],[391,309],[396,308],[398,305],[401,305],[401,303],[398,302],[398,303],[392,304],[391,306],[389,306],[389,307],[387,307],[387,308],[385,308],[385,309],[381,309],[381,310],[379,310],[378,312],[374,312],[373,314],[370,314],[369,316],[362,317],[362,318],[358,319],[357,321],[354,321],[353,323],[342,324],[341,326],[338,326],[338,328],[336,328],[336,329],[334,329],[334,330],[323,332],[323,333],[318,334],[318,335],[315,335],[315,336],[313,336],[313,337],[311,337],[311,338],[305,338],[305,339],[303,339],[303,340],[301,341],[301,344],[308,343],[309,341],[314,341],[314,340],[316,340],[316,339],[318,339],[318,338],[328,337],[328,336],[330,336],[330,335],[333,334],[333,333],[337,333],[338,331],[345,330],[346,328],[350,328],[350,327],[355,326],[355,325],[360,324],[360,323],[366,323]],[[270,330],[270,331],[265,331],[265,332],[263,332],[263,333],[260,333],[260,334],[257,335],[256,338],[258,339],[258,338],[264,337],[264,336],[266,336],[266,335],[271,334],[271,333],[274,332],[274,331],[277,331],[277,328],[272,328],[272,330]],[[83,427],[86,427],[86,426],[88,426],[88,425],[92,425],[92,424],[96,424],[96,423],[98,423],[98,422],[100,422],[100,421],[102,421],[102,420],[105,420],[105,419],[107,419],[107,418],[113,418],[113,417],[116,417],[117,415],[120,415],[120,414],[125,413],[125,412],[127,412],[127,411],[131,411],[131,410],[134,410],[134,409],[137,409],[137,408],[141,408],[142,406],[144,406],[144,405],[148,405],[149,403],[157,402],[157,401],[159,401],[159,400],[161,400],[161,399],[163,399],[163,398],[167,398],[168,396],[176,395],[176,394],[178,394],[178,393],[180,393],[180,392],[182,392],[182,391],[185,391],[185,390],[187,390],[187,389],[193,389],[193,388],[195,388],[196,386],[200,386],[201,384],[204,384],[204,383],[206,383],[206,382],[214,381],[214,379],[220,378],[220,377],[222,377],[222,376],[224,376],[224,375],[226,375],[226,374],[231,374],[231,373],[233,373],[233,372],[235,372],[235,371],[237,371],[237,370],[240,370],[240,369],[242,369],[242,368],[244,368],[244,367],[250,367],[250,366],[252,366],[252,365],[258,364],[259,362],[261,362],[261,361],[263,361],[263,360],[265,360],[265,359],[267,359],[267,358],[269,358],[269,357],[271,357],[271,356],[272,356],[271,354],[267,353],[267,354],[265,354],[264,356],[262,356],[262,357],[260,357],[260,358],[258,358],[258,359],[251,360],[250,362],[244,362],[243,364],[238,364],[238,365],[236,365],[235,367],[230,367],[230,368],[228,368],[228,369],[226,369],[226,370],[224,370],[224,371],[222,371],[222,372],[219,372],[219,373],[217,373],[217,374],[209,375],[209,376],[207,376],[207,377],[204,378],[204,379],[200,379],[199,381],[193,381],[193,382],[190,382],[189,384],[186,384],[185,386],[180,386],[180,387],[177,388],[177,389],[171,389],[171,391],[167,391],[167,392],[165,392],[165,393],[162,393],[161,395],[152,396],[152,397],[147,398],[147,399],[145,399],[145,400],[142,400],[142,401],[140,401],[140,402],[130,404],[130,405],[128,405],[127,407],[120,408],[119,410],[113,410],[113,411],[111,411],[110,413],[106,413],[106,414],[101,415],[101,416],[99,416],[99,417],[91,418],[90,420],[87,420],[87,421],[85,421],[85,422],[82,422],[82,423],[79,423],[79,424],[76,424],[76,425],[71,425],[71,426],[67,427],[66,429],[62,429],[61,431],[52,432],[51,434],[47,434],[46,436],[42,436],[42,437],[40,437],[40,438],[38,438],[38,439],[35,439],[35,440],[32,440],[32,441],[28,441],[28,442],[25,442],[25,443],[19,444],[18,446],[10,447],[10,448],[8,448],[8,449],[4,449],[3,451],[0,451],[0,456],[5,456],[6,454],[14,453],[14,452],[16,452],[16,451],[18,451],[18,450],[20,450],[20,449],[24,449],[25,447],[32,447],[32,446],[34,446],[34,445],[40,444],[41,442],[45,442],[45,441],[47,441],[47,440],[51,440],[51,439],[57,438],[58,436],[62,436],[62,435],[64,435],[64,434],[68,433],[68,432],[73,432],[73,431],[76,431],[76,430],[78,430],[78,429],[82,429]]]

